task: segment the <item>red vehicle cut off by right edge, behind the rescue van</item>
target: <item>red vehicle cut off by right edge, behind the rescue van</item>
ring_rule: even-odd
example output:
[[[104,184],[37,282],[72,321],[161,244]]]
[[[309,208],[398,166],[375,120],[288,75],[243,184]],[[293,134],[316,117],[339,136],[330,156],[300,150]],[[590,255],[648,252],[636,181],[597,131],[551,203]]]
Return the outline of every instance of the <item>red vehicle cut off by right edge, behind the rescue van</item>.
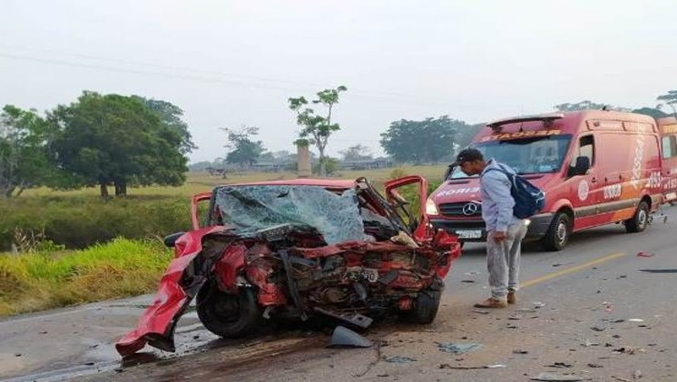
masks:
[[[677,119],[674,116],[657,120],[663,149],[663,195],[665,202],[677,204]]]

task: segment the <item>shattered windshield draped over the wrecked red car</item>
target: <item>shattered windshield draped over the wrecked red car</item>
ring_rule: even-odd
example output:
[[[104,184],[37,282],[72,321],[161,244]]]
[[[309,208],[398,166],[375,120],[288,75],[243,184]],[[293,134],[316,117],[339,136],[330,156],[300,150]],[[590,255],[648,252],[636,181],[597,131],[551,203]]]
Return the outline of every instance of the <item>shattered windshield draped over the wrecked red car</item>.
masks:
[[[292,224],[316,229],[329,245],[365,239],[355,190],[337,194],[319,186],[256,185],[224,186],[215,192],[212,223],[230,226],[240,236]]]

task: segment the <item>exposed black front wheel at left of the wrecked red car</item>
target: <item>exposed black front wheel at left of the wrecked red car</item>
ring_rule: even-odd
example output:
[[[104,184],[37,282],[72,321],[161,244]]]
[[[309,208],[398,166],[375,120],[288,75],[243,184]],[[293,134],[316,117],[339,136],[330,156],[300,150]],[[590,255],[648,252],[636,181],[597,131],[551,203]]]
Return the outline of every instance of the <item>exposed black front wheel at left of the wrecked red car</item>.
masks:
[[[205,283],[197,298],[199,321],[208,331],[224,337],[237,338],[253,333],[261,326],[261,308],[255,291],[240,288],[239,293],[223,293],[216,284]]]

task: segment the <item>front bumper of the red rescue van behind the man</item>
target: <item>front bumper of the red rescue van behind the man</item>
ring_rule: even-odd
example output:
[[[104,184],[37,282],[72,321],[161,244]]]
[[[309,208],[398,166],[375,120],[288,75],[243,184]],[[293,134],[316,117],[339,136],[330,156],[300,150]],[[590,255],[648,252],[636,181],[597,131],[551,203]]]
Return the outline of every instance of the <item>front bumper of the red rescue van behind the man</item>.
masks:
[[[524,240],[538,240],[545,236],[552,223],[554,214],[543,213],[529,218],[529,228]],[[483,220],[431,219],[432,227],[444,229],[459,238],[460,242],[487,241],[487,227]]]

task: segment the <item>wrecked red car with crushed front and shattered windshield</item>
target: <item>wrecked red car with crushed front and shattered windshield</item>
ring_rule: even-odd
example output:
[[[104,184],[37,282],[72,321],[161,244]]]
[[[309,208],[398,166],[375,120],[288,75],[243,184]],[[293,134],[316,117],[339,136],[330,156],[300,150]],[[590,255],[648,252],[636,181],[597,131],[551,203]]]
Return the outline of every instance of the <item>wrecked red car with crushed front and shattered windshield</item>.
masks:
[[[226,338],[317,315],[362,328],[393,313],[430,323],[460,246],[425,216],[427,188],[408,176],[386,182],[384,198],[364,178],[297,179],[194,196],[194,229],[165,238],[175,258],[117,351],[174,351],[174,329],[193,298],[205,328]]]

